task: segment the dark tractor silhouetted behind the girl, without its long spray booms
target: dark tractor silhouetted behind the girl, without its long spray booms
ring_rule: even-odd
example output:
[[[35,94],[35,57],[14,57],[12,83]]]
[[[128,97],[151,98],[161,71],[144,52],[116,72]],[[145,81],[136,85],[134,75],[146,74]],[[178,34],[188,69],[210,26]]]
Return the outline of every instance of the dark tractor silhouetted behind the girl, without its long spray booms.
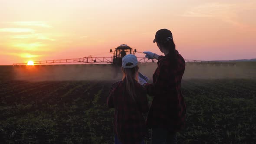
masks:
[[[110,49],[110,52],[113,52],[112,49]],[[122,65],[122,58],[128,54],[135,54],[136,49],[132,51],[132,48],[130,46],[127,46],[125,44],[122,44],[115,48],[115,51],[113,52],[113,64],[121,66]]]

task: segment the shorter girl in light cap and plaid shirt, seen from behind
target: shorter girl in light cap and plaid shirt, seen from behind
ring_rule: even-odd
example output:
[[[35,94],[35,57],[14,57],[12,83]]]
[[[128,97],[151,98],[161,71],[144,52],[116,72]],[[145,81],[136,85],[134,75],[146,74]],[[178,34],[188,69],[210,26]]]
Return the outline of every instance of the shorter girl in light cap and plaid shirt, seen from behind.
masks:
[[[115,108],[115,144],[144,144],[147,128],[142,113],[149,107],[146,91],[138,83],[138,69],[136,56],[124,56],[123,79],[112,85],[108,95],[108,108]]]

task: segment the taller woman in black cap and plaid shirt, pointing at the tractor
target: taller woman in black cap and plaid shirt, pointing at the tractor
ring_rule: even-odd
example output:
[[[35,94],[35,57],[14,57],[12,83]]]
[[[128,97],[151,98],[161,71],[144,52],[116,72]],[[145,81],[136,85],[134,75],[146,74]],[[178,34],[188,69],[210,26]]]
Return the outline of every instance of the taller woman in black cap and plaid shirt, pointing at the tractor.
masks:
[[[175,144],[176,132],[185,125],[186,105],[181,93],[185,61],[175,48],[170,30],[158,30],[153,42],[164,56],[144,52],[148,59],[158,59],[153,84],[143,82],[147,93],[154,96],[146,123],[151,128],[151,144]]]

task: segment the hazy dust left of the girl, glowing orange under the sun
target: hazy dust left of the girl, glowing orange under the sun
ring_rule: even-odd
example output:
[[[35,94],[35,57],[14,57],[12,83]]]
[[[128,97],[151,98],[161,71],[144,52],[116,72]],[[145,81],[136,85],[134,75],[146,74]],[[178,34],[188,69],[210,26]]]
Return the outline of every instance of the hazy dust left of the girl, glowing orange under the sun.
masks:
[[[112,65],[23,65],[14,66],[13,70],[15,80],[28,81],[113,80],[121,77],[121,69]]]

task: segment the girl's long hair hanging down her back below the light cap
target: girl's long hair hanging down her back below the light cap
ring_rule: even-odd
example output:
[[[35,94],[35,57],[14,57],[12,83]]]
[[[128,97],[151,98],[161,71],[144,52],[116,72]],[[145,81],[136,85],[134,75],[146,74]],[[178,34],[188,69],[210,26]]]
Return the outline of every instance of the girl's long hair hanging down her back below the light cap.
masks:
[[[128,62],[126,66],[132,65],[132,63]],[[126,79],[126,92],[131,96],[133,100],[136,100],[136,93],[135,93],[135,75],[138,71],[138,65],[133,68],[123,68],[125,72],[125,79]]]

